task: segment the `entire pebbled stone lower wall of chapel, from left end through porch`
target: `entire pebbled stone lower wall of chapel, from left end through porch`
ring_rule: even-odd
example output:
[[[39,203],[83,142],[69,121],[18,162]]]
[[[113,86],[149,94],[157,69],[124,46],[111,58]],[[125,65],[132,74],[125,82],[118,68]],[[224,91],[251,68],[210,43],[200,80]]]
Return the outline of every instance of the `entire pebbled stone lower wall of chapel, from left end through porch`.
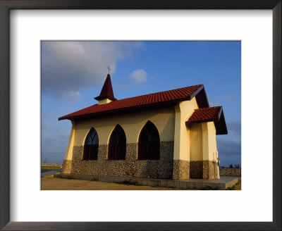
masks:
[[[97,160],[82,160],[83,146],[73,146],[73,160],[63,161],[61,173],[185,180],[215,179],[212,161],[173,160],[173,142],[160,143],[159,160],[138,160],[138,144],[126,144],[125,160],[108,160],[109,146],[99,145]]]

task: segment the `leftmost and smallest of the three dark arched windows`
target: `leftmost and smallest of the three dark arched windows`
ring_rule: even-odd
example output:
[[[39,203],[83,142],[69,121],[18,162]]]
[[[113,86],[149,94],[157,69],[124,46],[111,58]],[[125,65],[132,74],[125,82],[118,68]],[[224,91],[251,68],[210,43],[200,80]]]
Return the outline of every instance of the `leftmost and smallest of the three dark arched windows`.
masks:
[[[99,137],[92,127],[88,132],[83,146],[83,160],[97,160],[98,157]]]

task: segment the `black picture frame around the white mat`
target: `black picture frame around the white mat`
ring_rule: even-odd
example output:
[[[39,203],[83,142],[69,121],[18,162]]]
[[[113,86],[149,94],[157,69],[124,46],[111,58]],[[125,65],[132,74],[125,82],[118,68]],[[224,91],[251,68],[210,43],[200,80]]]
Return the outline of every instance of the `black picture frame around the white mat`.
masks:
[[[0,228],[3,230],[281,230],[281,0],[0,0]],[[273,222],[10,222],[9,15],[11,9],[271,9],[273,12]]]

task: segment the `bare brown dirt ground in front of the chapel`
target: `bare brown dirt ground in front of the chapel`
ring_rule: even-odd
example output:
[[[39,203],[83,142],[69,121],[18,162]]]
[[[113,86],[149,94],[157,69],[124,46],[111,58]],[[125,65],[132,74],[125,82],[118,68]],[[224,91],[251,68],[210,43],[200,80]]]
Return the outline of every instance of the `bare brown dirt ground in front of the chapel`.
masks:
[[[235,190],[241,189],[241,177],[239,184],[235,185]],[[69,180],[53,177],[48,175],[41,178],[42,190],[177,190],[167,187],[150,187],[150,186],[136,186],[123,185],[116,183],[97,182],[89,180]],[[189,189],[186,189],[189,190]]]

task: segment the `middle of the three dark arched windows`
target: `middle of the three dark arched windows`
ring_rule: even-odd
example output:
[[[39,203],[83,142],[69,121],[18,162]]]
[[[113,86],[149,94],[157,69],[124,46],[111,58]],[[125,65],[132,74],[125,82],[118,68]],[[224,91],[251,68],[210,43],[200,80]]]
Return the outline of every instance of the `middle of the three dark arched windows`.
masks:
[[[126,137],[121,125],[116,125],[109,140],[109,160],[125,160]]]

